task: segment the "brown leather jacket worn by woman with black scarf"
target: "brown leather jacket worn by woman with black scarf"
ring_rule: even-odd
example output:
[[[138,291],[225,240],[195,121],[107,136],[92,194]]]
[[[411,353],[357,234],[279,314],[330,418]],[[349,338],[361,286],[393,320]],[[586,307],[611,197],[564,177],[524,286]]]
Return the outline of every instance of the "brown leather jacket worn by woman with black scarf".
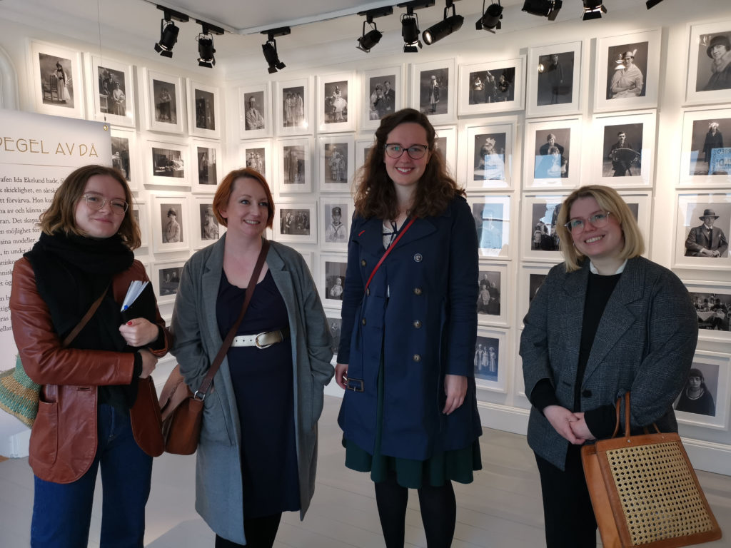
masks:
[[[133,280],[148,280],[139,261],[113,278],[114,299],[120,305]],[[33,267],[24,257],[12,271],[10,318],[23,368],[44,385],[31,430],[29,463],[35,475],[48,482],[74,482],[86,473],[96,454],[96,387],[129,384],[135,356],[62,348],[48,306],[38,294]],[[165,345],[153,353],[164,356],[172,341],[159,311],[156,324],[163,327]],[[159,406],[151,378],[140,379],[130,416],[140,448],[153,456],[162,454]]]

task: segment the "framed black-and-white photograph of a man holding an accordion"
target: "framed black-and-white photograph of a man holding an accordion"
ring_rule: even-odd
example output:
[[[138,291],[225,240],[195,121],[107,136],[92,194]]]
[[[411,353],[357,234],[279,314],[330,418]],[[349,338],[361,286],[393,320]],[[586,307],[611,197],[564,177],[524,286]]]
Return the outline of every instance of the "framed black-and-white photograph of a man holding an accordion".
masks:
[[[613,189],[653,185],[656,111],[595,115],[591,180]]]

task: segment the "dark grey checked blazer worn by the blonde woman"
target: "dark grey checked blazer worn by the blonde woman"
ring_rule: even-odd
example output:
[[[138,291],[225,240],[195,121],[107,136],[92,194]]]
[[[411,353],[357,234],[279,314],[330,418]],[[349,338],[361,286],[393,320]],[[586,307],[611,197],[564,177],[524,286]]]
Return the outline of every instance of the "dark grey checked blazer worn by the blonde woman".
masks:
[[[564,263],[553,267],[531,302],[520,337],[526,395],[548,378],[568,409],[574,401],[588,273],[588,261],[572,273]],[[629,259],[596,330],[581,411],[632,392],[633,426],[655,422],[660,430],[677,431],[672,403],[686,381],[697,338],[697,314],[678,276],[643,257]],[[535,407],[528,443],[564,470],[569,442]]]

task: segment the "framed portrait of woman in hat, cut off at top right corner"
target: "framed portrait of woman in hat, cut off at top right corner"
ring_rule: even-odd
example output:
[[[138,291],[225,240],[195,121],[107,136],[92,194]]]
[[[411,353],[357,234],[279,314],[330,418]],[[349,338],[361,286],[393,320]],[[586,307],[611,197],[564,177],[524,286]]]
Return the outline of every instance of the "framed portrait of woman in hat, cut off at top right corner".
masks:
[[[728,102],[730,52],[731,19],[690,26],[686,104]]]

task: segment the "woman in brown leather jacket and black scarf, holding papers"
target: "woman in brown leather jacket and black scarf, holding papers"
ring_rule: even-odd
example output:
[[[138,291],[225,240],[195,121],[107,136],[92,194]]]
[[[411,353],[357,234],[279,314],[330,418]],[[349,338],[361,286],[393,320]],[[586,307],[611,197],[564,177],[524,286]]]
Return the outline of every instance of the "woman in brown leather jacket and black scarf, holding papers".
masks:
[[[149,376],[170,335],[151,293],[135,303],[147,319],[132,313],[123,320],[130,283],[148,280],[132,253],[140,229],[131,203],[118,170],[80,167],[61,183],[40,217],[38,242],[13,269],[13,335],[26,373],[42,385],[29,449],[31,547],[88,544],[99,465],[101,545],[143,546],[152,456],[162,452]]]

